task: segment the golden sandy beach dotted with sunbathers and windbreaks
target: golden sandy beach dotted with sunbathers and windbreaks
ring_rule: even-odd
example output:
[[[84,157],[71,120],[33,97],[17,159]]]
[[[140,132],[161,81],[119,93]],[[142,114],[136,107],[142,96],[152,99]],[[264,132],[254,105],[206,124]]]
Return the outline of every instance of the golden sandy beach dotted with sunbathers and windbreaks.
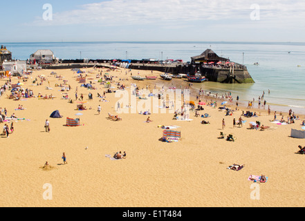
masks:
[[[9,138],[0,137],[0,206],[305,206],[302,197],[305,156],[295,154],[298,145],[304,146],[304,140],[290,137],[291,128],[301,130],[303,115],[299,115],[295,124],[279,125],[270,122],[272,109],[270,115],[267,108],[251,109],[261,115],[243,117],[246,123],[240,128],[233,127],[233,119],[238,120],[242,110],[249,109],[239,106],[233,115],[225,116],[225,111],[218,108],[221,106],[219,99],[216,108],[205,105],[204,111],[198,111],[200,115],[211,116],[205,119],[210,122],[207,125],[201,124],[203,118],[194,117],[193,111],[190,112],[192,121],[174,120],[172,113],[152,113],[149,117],[153,122],[146,123],[147,115],[115,113],[115,103],[120,99],[115,93],[106,94],[109,102],[100,102],[97,94],[102,95],[106,90],[96,78],[101,69],[82,70],[86,72],[83,74],[87,75],[86,82],[92,81],[97,90],[81,87],[73,70],[35,70],[28,81],[22,82],[22,88],[33,90],[35,96],[52,94],[53,99],[33,97],[13,101],[7,98],[10,90],[0,97],[0,107],[8,110],[8,116],[15,113],[21,118],[13,121],[15,131]],[[107,72],[107,69],[102,70]],[[63,78],[59,80],[50,75],[52,72]],[[167,89],[171,84],[177,88],[189,84],[183,79],[135,81],[126,72],[128,70],[122,69],[107,73],[114,76],[113,81],[125,84],[128,93],[131,84],[138,84],[139,88],[148,86],[149,90],[155,85],[157,89],[163,85]],[[137,75],[138,70],[132,73]],[[41,86],[32,82],[38,75],[45,75],[47,79]],[[160,73],[140,70],[140,75],[158,76]],[[0,85],[7,80],[0,79]],[[62,92],[60,87],[55,87],[55,84],[63,84],[63,80],[71,86],[70,91]],[[22,80],[12,77],[12,84],[18,81]],[[46,90],[47,86],[53,90]],[[117,89],[114,82],[112,86],[113,90]],[[86,111],[75,110],[76,87],[78,97],[84,95]],[[63,93],[68,93],[73,104],[62,99]],[[93,99],[89,100],[89,93],[93,94]],[[213,98],[201,98],[203,102],[210,102],[210,99]],[[194,101],[197,105],[198,101]],[[234,100],[226,106],[235,109],[235,103]],[[19,104],[26,109],[15,111]],[[50,118],[56,110],[62,118]],[[83,115],[75,116],[80,112]],[[107,119],[108,113],[119,115],[122,121]],[[287,116],[288,113],[284,113],[284,119]],[[81,126],[65,126],[66,117],[79,117]],[[50,122],[50,133],[45,132],[46,119]],[[223,129],[222,119],[225,119]],[[277,119],[281,119],[279,115]],[[256,121],[270,128],[265,131],[249,129],[249,123]],[[162,142],[163,128],[159,125],[178,126],[176,130],[181,131],[181,139]],[[232,134],[236,140],[219,139],[221,132]],[[126,151],[127,159],[105,157],[118,151]],[[66,153],[68,164],[63,164],[62,153]],[[45,162],[53,168],[43,169]],[[232,164],[245,166],[240,171],[227,169]],[[252,186],[254,182],[248,177],[261,174],[268,177],[267,182]],[[44,198],[44,184],[52,186],[51,200]],[[259,190],[259,199],[251,198],[253,188]]]

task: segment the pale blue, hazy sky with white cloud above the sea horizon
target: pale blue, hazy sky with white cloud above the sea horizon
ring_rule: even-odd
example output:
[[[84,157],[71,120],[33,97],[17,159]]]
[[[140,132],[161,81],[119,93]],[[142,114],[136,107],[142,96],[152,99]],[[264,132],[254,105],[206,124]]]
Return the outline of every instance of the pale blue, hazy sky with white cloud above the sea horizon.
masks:
[[[304,0],[1,1],[0,42],[304,42]]]

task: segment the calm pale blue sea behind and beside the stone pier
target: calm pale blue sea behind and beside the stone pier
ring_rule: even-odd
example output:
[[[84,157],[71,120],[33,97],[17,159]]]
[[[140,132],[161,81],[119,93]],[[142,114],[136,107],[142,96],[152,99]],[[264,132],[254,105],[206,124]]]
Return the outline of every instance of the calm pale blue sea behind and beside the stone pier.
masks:
[[[212,94],[231,93],[240,102],[264,94],[272,111],[305,114],[305,43],[214,42],[214,41],[107,41],[2,43],[13,59],[26,60],[39,49],[50,49],[59,59],[183,59],[201,55],[210,48],[220,57],[244,64],[254,84],[221,84],[212,81],[193,84]],[[255,65],[258,63],[258,65]],[[270,93],[268,93],[270,91]]]

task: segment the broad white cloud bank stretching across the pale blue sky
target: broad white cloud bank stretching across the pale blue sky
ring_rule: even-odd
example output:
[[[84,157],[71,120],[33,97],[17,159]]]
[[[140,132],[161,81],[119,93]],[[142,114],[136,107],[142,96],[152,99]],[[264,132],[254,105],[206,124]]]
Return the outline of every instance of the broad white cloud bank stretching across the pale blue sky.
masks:
[[[287,0],[107,0],[78,9],[56,12],[53,21],[37,18],[35,26],[128,26],[190,21],[241,21],[250,23],[252,4],[260,7],[261,21],[277,26],[305,23],[305,1]],[[279,22],[280,20],[280,22]]]

